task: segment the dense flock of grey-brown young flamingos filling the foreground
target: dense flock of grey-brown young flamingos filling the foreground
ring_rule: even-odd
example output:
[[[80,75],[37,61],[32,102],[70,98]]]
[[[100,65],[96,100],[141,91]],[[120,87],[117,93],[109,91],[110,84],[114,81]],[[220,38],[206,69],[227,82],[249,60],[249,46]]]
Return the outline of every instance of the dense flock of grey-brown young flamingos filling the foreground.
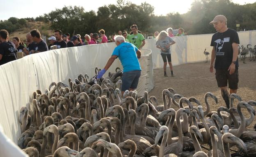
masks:
[[[52,82],[43,93],[33,93],[33,107],[23,106],[18,119],[22,133],[18,146],[27,155],[256,156],[256,131],[247,129],[256,114],[254,100],[242,101],[231,94],[230,108],[211,111],[210,106],[218,102],[212,93],[199,102],[168,88],[162,90],[163,104],[159,104],[146,91],[143,97],[136,91],[121,95],[119,69],[105,78],[96,75],[88,80],[87,74],[80,74],[74,82],[69,79],[69,85]],[[209,99],[216,104],[210,105]],[[245,118],[245,113],[250,117]]]

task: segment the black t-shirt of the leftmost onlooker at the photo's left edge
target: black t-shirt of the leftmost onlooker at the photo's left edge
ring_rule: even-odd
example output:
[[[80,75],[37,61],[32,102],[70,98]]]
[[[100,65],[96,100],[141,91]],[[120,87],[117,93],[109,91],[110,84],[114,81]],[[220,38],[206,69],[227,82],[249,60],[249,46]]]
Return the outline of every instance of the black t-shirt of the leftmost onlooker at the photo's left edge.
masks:
[[[0,65],[16,60],[16,53],[17,49],[14,43],[9,41],[0,43],[0,54],[2,55]]]

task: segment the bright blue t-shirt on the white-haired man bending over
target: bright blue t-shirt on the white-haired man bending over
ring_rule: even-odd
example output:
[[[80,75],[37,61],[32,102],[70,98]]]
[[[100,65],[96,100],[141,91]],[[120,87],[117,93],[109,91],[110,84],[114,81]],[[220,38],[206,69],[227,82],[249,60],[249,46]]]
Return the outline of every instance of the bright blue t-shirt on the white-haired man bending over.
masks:
[[[114,49],[112,55],[118,56],[123,66],[123,72],[133,70],[141,71],[139,60],[136,54],[137,51],[138,49],[136,46],[134,46],[134,44],[123,42]]]

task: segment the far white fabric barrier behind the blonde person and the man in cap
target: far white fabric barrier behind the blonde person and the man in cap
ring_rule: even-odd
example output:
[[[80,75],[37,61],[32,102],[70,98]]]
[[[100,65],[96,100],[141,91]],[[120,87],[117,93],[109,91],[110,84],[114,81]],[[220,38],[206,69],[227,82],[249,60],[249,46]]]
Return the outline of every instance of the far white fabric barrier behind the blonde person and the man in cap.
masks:
[[[251,44],[252,47],[256,45],[256,31],[241,31],[238,32],[238,35],[240,45],[245,47],[247,44]],[[212,36],[213,34],[202,34],[172,37],[172,39],[176,42],[175,44],[171,45],[172,65],[205,61],[206,56],[203,54],[203,51],[206,49],[206,51],[211,53],[212,46],[210,46],[210,42]],[[156,48],[155,43],[155,39],[147,39],[143,48],[151,49],[153,69],[158,69],[163,67],[163,61],[160,55],[160,49]],[[208,55],[209,62],[210,58],[211,56]],[[167,66],[169,65],[167,64]]]

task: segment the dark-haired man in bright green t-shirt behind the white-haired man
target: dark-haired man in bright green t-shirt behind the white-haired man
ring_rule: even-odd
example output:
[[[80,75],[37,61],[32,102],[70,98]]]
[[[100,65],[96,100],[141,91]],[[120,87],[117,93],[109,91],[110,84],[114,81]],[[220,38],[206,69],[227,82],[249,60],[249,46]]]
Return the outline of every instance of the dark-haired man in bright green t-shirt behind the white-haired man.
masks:
[[[129,37],[129,42],[134,44],[138,49],[142,49],[145,45],[145,38],[141,33],[138,33],[138,27],[136,24],[133,24],[130,29],[133,34]]]

